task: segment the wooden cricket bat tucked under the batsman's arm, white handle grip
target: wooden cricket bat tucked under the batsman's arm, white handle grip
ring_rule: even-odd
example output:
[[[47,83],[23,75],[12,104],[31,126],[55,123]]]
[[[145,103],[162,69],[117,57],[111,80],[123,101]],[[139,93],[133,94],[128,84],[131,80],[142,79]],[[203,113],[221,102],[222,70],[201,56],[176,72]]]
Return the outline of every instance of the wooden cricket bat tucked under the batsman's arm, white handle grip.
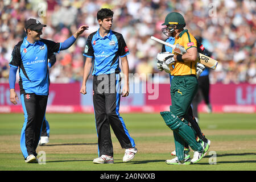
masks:
[[[167,42],[164,42],[163,40],[155,38],[154,36],[151,36],[150,39],[155,40],[156,42],[164,44],[168,47],[171,47],[174,50],[174,52],[179,53],[181,55],[183,55],[184,53],[187,52],[186,49],[183,46],[180,46],[179,44],[172,45]],[[218,64],[217,60],[214,60],[209,56],[205,56],[205,55],[203,55],[203,53],[197,53],[197,56],[199,58],[199,63],[201,63],[209,68],[216,69],[217,64]]]

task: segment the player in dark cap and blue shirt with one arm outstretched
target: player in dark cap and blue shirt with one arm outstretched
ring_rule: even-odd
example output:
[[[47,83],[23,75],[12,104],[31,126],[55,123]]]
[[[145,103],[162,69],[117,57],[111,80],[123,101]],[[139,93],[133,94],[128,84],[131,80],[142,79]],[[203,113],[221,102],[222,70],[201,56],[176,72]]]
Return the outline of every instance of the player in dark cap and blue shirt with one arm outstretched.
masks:
[[[20,100],[24,111],[24,124],[20,135],[20,148],[26,163],[36,163],[36,148],[40,139],[41,127],[46,113],[49,94],[48,57],[52,53],[68,49],[79,35],[88,29],[80,26],[63,43],[41,39],[43,27],[36,19],[28,19],[24,30],[27,36],[13,49],[10,61],[9,85],[10,101],[17,104],[15,92],[16,72],[19,68]]]

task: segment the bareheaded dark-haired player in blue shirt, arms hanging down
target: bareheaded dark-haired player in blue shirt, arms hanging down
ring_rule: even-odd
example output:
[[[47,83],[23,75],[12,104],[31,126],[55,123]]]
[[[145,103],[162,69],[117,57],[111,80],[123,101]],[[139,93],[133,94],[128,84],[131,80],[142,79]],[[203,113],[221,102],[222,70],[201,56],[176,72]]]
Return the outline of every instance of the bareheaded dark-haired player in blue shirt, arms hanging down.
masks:
[[[97,164],[114,163],[110,126],[121,147],[125,148],[123,162],[133,159],[137,153],[134,140],[119,115],[121,97],[119,57],[125,75],[122,96],[126,97],[129,95],[129,65],[126,57],[129,50],[122,34],[111,30],[113,14],[110,9],[98,11],[100,28],[89,35],[84,50],[86,61],[80,93],[86,94],[86,81],[93,66],[93,106],[98,135],[98,158],[94,159],[93,163]]]

